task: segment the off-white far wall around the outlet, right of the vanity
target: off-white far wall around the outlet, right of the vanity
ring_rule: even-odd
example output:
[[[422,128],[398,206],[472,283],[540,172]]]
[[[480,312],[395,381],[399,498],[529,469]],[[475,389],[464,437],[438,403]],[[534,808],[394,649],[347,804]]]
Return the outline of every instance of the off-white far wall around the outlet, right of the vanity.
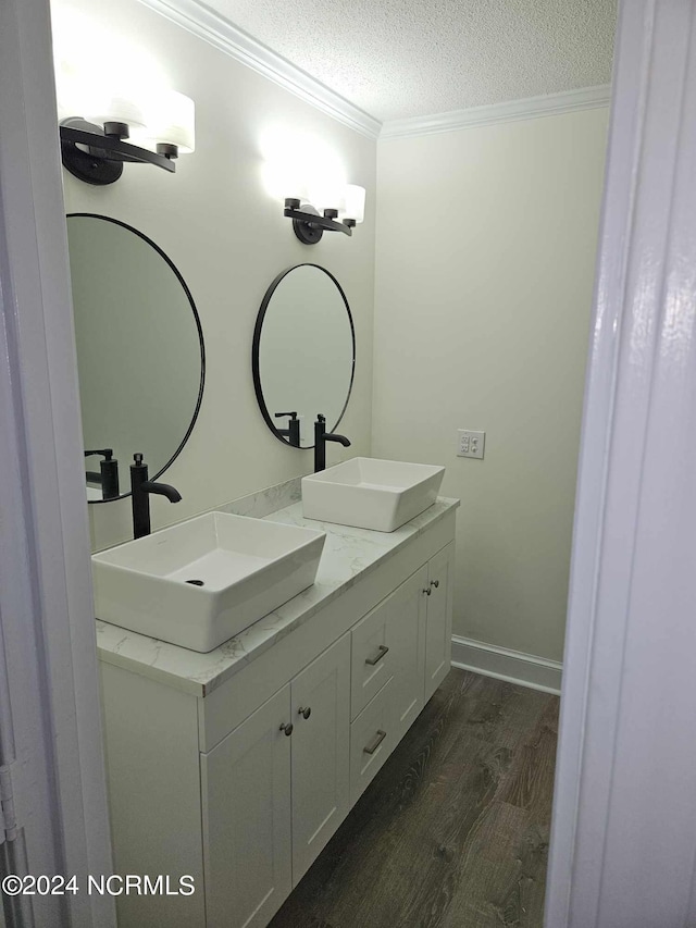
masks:
[[[460,497],[455,634],[562,655],[606,108],[377,156],[375,457]],[[457,430],[486,432],[483,461]]]

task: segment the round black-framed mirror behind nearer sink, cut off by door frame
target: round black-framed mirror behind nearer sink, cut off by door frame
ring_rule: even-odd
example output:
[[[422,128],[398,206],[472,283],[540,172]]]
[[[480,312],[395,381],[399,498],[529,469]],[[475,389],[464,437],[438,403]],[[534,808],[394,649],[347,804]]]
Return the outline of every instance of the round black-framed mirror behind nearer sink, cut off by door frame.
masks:
[[[154,480],[186,443],[203,393],[200,320],[184,279],[147,236],[72,213],[67,240],[90,503],[129,495],[144,455]]]

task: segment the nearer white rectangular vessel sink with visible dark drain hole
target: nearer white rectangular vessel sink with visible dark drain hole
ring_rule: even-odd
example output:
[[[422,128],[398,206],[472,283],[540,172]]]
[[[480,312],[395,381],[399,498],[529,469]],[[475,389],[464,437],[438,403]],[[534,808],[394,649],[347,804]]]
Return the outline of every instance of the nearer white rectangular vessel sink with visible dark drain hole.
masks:
[[[92,555],[97,618],[212,651],[311,586],[326,535],[209,512]]]

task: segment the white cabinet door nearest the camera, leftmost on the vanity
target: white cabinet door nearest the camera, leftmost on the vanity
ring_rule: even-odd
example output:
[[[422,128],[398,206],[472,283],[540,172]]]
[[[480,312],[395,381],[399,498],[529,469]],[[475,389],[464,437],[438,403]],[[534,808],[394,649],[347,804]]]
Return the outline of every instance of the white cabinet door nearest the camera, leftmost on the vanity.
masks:
[[[291,890],[290,686],[201,755],[208,928],[265,926]]]

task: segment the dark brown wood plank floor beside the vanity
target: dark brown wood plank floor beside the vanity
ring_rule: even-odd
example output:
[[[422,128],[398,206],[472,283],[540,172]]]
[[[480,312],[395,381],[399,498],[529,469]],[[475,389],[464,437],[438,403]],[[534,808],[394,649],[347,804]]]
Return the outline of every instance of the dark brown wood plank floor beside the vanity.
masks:
[[[271,928],[542,928],[558,703],[452,669]]]

